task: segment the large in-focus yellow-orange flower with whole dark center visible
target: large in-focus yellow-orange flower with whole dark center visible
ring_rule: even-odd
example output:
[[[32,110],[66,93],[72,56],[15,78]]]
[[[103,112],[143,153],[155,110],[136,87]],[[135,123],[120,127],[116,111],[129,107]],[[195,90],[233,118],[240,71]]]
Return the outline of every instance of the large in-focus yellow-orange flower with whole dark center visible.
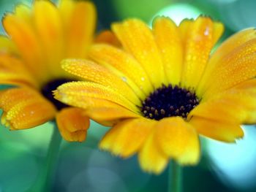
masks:
[[[176,26],[157,18],[114,23],[122,49],[98,44],[88,60],[63,68],[84,78],[55,91],[56,99],[86,109],[113,126],[99,147],[127,158],[138,153],[146,172],[160,173],[170,158],[197,164],[198,135],[224,142],[243,137],[241,123],[256,122],[255,29],[230,37],[212,55],[222,23],[210,18]]]

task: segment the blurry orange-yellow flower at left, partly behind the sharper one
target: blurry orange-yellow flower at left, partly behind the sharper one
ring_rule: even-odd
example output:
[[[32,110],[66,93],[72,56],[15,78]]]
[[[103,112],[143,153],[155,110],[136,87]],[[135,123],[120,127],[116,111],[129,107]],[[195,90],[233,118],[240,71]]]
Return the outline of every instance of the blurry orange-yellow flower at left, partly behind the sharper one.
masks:
[[[89,1],[34,1],[3,18],[0,37],[1,122],[11,130],[32,128],[56,118],[62,137],[83,141],[89,118],[83,110],[53,99],[52,91],[74,77],[61,69],[64,58],[86,58],[93,42],[96,12]],[[77,78],[75,78],[77,80]]]

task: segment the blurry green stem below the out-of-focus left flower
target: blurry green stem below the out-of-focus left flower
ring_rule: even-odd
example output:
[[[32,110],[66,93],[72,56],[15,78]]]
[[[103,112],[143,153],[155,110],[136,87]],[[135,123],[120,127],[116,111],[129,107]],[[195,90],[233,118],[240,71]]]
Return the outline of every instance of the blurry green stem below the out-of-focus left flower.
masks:
[[[45,164],[42,166],[41,174],[38,177],[35,185],[29,191],[51,191],[53,178],[56,175],[56,164],[59,159],[59,148],[61,145],[61,135],[56,123],[53,126],[53,134],[50,139],[48,153],[45,159]]]

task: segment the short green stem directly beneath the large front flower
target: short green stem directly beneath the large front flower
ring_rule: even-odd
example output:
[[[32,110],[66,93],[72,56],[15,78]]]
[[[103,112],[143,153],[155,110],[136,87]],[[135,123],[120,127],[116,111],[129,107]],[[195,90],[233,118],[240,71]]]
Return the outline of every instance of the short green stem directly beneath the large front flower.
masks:
[[[168,192],[182,191],[182,167],[175,161],[170,161],[168,178]]]

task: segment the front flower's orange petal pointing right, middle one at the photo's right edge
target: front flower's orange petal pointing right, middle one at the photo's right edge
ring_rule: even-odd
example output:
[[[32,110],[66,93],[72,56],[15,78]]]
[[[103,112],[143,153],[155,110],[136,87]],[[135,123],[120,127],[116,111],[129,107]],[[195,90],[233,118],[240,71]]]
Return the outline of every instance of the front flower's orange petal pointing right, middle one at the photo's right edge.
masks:
[[[256,80],[248,80],[227,91],[205,99],[188,118],[205,118],[224,124],[256,123]]]

